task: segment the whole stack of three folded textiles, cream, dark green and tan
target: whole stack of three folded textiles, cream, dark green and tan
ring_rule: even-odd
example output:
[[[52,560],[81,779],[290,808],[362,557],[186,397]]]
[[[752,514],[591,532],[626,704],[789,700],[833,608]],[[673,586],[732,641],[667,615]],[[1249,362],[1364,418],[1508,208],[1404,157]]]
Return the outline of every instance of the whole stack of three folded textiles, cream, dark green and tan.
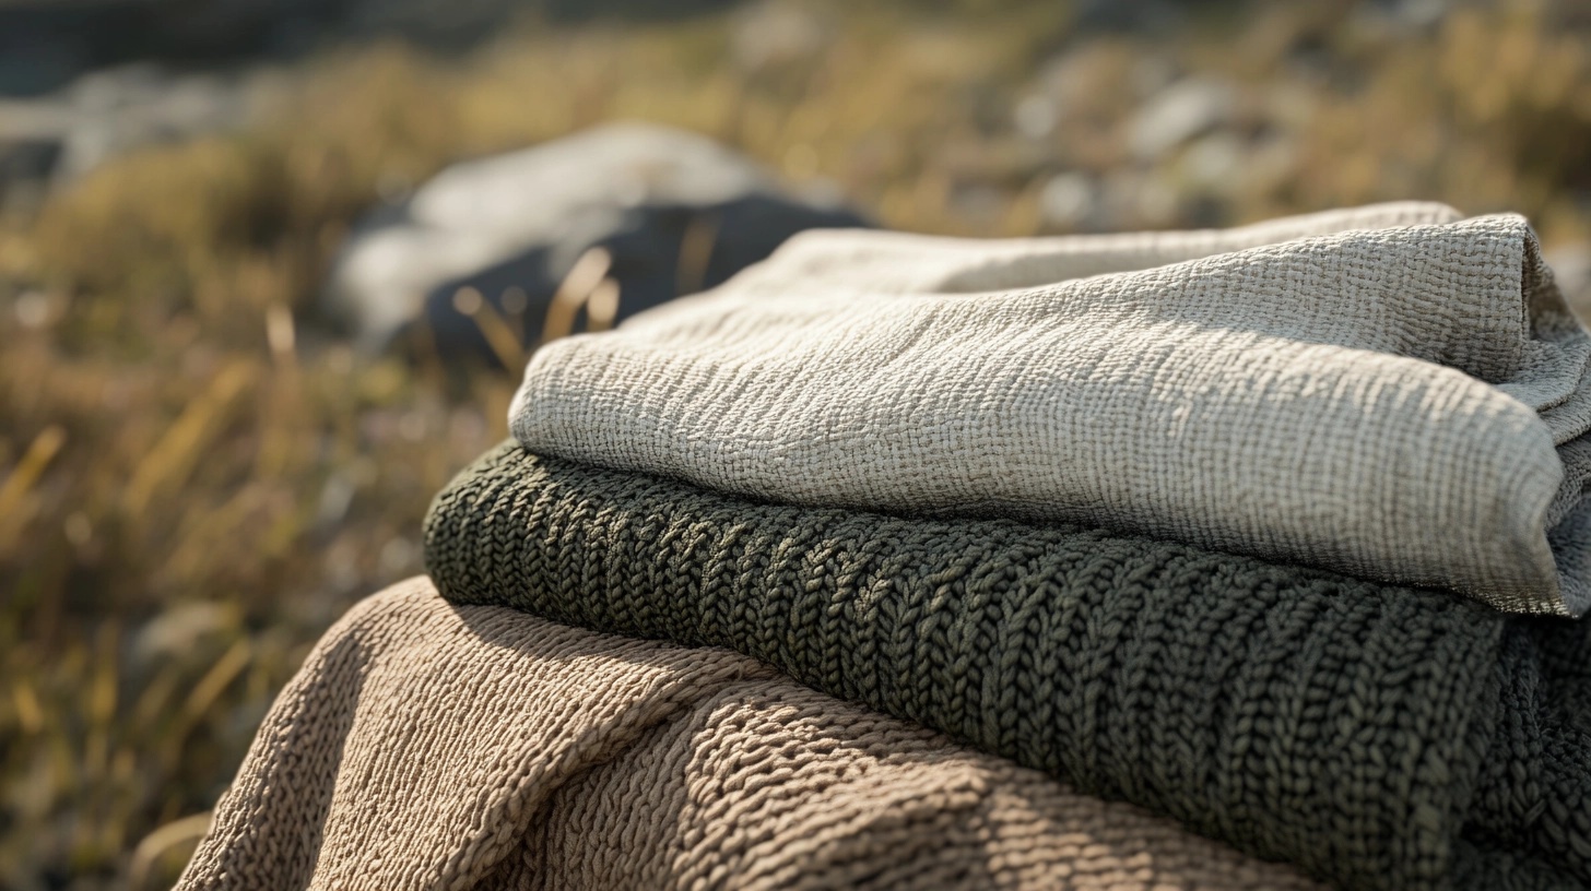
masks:
[[[1588,886],[1588,364],[1511,215],[799,235],[536,353],[188,878]]]

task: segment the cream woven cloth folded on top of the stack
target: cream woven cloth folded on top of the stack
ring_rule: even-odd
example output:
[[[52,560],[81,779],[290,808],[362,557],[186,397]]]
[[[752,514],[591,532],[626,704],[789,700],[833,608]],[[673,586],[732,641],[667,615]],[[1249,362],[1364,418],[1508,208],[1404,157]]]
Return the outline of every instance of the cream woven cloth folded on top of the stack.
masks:
[[[1588,360],[1516,215],[816,232],[538,352],[511,428],[757,498],[1082,522],[1580,614]]]

